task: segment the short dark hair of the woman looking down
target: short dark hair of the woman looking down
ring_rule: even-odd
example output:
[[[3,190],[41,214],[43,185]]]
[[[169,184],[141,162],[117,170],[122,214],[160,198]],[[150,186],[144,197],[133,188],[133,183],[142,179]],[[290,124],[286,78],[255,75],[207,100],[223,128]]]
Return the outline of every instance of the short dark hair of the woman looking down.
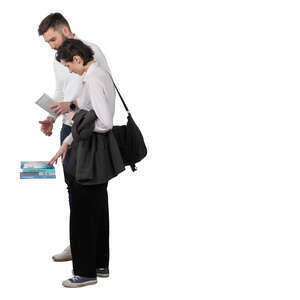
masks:
[[[57,49],[56,60],[59,62],[61,60],[71,62],[76,55],[82,58],[84,66],[94,59],[94,51],[91,47],[78,39],[67,39]]]

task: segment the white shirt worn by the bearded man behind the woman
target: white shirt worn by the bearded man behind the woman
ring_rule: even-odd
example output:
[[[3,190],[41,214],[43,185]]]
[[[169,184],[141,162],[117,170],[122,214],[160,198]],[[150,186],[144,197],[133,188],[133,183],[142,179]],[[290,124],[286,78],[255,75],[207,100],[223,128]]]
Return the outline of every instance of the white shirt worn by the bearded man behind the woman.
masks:
[[[76,35],[74,38],[79,39]],[[94,59],[99,63],[101,68],[110,72],[107,61],[100,48],[92,43],[81,40],[86,45],[90,46],[94,51]],[[54,57],[54,73],[56,80],[56,89],[53,99],[58,102],[78,100],[82,89],[82,76],[76,73],[70,73],[69,69],[58,62]],[[56,120],[55,115],[50,115]],[[63,115],[63,123],[71,125],[66,114]]]

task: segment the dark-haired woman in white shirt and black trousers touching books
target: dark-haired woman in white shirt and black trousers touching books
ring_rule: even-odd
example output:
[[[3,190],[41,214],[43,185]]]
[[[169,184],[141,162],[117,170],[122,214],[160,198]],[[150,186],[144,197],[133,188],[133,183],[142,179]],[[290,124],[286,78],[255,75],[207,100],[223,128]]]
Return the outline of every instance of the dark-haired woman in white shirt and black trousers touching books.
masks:
[[[125,167],[112,134],[115,90],[110,75],[93,59],[92,49],[77,39],[64,41],[56,59],[83,77],[78,109],[71,114],[72,133],[49,164],[62,162],[71,182],[70,245],[74,277],[65,287],[97,283],[107,277],[109,263],[108,181]],[[70,105],[75,110],[74,104]]]

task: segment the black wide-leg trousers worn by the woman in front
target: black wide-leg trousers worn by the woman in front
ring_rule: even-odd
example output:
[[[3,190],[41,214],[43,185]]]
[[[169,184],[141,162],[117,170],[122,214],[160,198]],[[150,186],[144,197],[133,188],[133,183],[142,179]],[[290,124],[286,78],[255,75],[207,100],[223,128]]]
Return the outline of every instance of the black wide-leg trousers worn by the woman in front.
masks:
[[[96,277],[109,264],[107,184],[81,185],[70,177],[70,244],[75,275]]]

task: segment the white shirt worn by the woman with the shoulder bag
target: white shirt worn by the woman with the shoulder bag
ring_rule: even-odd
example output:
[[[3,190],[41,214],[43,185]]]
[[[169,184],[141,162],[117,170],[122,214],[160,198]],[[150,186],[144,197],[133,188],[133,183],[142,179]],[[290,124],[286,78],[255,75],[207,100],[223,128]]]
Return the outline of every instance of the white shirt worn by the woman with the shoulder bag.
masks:
[[[94,110],[98,119],[95,121],[94,132],[106,132],[113,127],[116,92],[107,71],[98,62],[92,63],[82,75],[82,90],[78,98],[78,106],[84,110]],[[64,143],[71,145],[72,133]]]

